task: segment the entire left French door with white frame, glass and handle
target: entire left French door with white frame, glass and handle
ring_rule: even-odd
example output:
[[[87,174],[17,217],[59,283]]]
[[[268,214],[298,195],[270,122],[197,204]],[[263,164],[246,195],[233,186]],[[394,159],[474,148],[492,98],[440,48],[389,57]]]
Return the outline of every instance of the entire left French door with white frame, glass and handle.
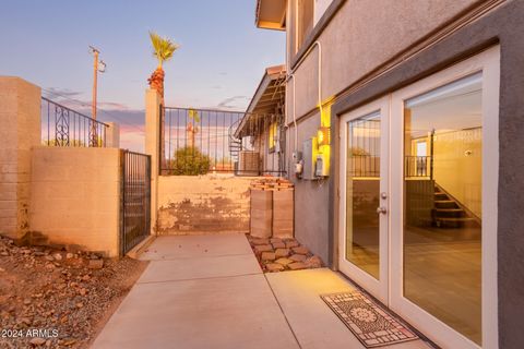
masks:
[[[338,267],[389,303],[389,99],[341,118]]]

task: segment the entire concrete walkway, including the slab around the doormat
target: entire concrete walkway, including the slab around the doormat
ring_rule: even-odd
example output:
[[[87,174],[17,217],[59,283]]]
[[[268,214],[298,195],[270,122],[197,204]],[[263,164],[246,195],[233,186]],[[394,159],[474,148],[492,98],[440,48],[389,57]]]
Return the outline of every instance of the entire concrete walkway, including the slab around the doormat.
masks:
[[[319,297],[350,290],[345,279],[264,275],[243,234],[159,237],[141,258],[150,265],[93,348],[364,348]]]

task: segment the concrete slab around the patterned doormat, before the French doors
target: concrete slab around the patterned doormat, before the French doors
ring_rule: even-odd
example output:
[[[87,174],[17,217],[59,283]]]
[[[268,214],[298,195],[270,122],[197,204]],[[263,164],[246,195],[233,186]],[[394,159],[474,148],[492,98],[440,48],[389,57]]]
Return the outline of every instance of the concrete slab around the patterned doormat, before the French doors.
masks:
[[[365,348],[320,298],[323,293],[354,290],[340,274],[327,268],[265,275],[302,349]],[[381,348],[428,349],[422,340]]]

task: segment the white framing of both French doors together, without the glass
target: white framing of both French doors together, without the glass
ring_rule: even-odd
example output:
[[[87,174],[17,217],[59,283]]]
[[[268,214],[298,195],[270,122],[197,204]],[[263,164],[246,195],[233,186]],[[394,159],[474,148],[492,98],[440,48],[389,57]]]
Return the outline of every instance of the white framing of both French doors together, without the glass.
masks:
[[[477,72],[483,72],[483,348],[497,349],[500,47],[487,49],[340,118],[340,269],[443,348],[478,349],[479,346],[403,297],[404,101]],[[377,110],[381,110],[383,122],[381,192],[385,191],[389,196],[385,205],[389,213],[381,217],[380,280],[345,261],[347,122]],[[382,172],[383,169],[388,172]]]

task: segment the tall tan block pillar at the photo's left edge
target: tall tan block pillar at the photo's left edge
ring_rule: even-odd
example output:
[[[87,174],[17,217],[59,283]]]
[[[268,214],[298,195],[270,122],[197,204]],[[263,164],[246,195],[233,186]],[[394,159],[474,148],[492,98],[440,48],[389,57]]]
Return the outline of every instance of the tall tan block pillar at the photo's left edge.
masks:
[[[31,148],[40,142],[40,88],[0,76],[0,233],[28,230]]]

